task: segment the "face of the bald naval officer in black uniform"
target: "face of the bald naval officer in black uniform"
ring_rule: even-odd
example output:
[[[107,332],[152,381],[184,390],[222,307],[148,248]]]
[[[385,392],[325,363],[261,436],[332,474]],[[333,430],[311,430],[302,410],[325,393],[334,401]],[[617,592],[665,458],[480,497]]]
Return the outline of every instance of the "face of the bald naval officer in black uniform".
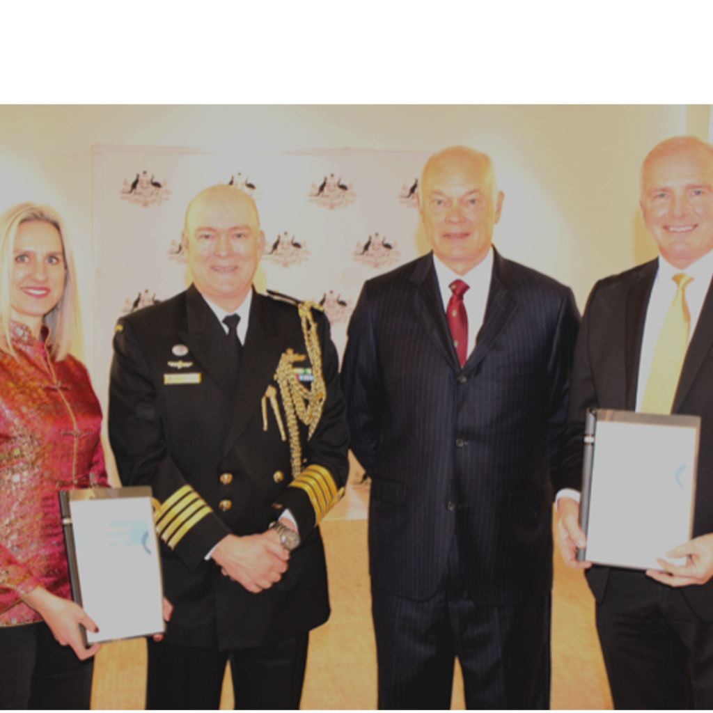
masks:
[[[207,188],[188,207],[183,247],[198,292],[235,312],[265,251],[255,204],[232,186]]]

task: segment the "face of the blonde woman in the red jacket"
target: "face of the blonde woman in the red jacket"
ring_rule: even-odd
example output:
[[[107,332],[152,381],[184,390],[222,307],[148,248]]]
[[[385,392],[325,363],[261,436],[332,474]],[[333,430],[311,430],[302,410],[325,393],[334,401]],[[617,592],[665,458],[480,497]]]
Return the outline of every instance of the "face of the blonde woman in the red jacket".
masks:
[[[12,262],[12,319],[39,337],[42,319],[57,306],[65,279],[62,238],[56,227],[39,220],[21,223]]]

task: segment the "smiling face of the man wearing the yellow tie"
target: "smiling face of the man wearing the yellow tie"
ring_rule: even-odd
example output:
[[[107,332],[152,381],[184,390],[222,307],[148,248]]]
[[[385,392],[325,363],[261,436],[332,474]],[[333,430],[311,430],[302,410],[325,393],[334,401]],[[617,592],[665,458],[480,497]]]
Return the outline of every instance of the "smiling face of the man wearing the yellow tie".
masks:
[[[683,270],[713,250],[713,153],[696,140],[657,146],[642,169],[640,207],[674,267]]]

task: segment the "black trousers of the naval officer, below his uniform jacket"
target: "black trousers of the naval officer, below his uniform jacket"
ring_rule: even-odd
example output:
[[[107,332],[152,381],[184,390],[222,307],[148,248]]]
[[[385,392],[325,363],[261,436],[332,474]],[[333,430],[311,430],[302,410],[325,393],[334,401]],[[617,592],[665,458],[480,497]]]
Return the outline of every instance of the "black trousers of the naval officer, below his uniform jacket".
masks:
[[[309,632],[237,651],[148,639],[146,709],[217,710],[225,664],[230,661],[235,710],[297,710],[308,643]]]

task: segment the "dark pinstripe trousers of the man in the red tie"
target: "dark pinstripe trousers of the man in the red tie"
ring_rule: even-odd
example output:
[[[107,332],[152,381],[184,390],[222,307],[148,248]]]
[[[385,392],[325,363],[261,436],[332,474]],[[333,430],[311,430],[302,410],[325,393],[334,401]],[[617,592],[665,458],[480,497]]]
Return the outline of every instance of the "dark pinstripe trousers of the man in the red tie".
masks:
[[[449,709],[455,657],[468,709],[548,709],[550,595],[500,607],[466,592],[458,543],[425,602],[372,585],[379,709]]]

